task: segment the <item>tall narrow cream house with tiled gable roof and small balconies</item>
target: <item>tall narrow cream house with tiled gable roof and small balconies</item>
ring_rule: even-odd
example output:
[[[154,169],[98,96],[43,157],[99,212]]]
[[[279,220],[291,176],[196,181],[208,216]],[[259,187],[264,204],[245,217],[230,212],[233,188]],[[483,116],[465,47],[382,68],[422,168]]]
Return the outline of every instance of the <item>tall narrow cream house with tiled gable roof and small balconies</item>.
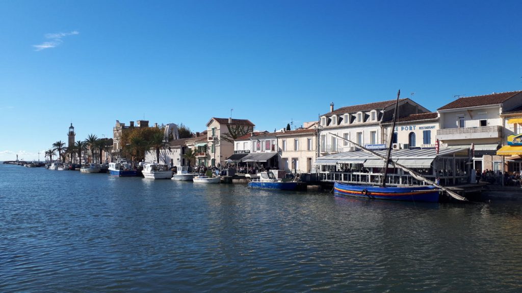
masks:
[[[207,140],[195,145],[198,163],[204,166],[221,166],[234,153],[234,140],[254,131],[247,119],[215,118],[207,123]]]

